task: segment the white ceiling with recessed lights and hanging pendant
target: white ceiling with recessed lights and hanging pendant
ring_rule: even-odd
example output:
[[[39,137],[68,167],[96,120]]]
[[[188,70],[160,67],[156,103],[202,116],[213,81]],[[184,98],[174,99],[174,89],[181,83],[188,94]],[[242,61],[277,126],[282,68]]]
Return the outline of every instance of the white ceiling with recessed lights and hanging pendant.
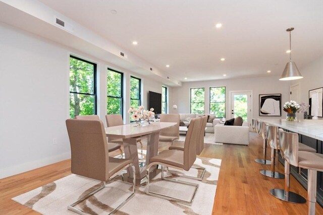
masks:
[[[323,1],[40,2],[183,82],[279,76],[290,27],[299,68],[323,55]]]

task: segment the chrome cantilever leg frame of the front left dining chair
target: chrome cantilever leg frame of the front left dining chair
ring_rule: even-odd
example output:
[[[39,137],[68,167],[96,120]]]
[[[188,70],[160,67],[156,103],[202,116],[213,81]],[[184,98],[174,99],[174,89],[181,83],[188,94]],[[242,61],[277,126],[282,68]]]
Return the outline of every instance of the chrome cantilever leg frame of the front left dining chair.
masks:
[[[119,206],[117,206],[116,208],[114,208],[110,213],[108,213],[109,215],[114,213],[116,210],[118,210],[120,207],[122,207],[125,203],[127,203],[134,195],[135,195],[135,187],[136,187],[136,174],[135,174],[135,167],[132,164],[129,164],[127,166],[125,166],[122,170],[118,171],[117,173],[115,173],[113,176],[111,176],[110,178],[114,178],[116,175],[118,175],[121,171],[123,171],[124,169],[131,167],[132,168],[132,177],[133,177],[133,183],[132,183],[132,193],[126,198],[126,200],[124,200],[121,204],[119,204]],[[121,181],[123,182],[123,181]],[[100,191],[101,189],[105,188],[105,181],[101,182],[102,185],[100,187],[98,187],[97,189],[93,190],[92,192],[86,194],[85,196],[83,196],[82,198],[79,198],[76,202],[70,204],[69,206],[67,206],[67,209],[76,212],[78,214],[87,214],[85,213],[83,210],[78,209],[76,207],[74,207],[75,205],[77,205],[78,203],[80,203],[81,201],[84,201],[85,199],[87,199],[89,196],[95,194],[96,192]],[[129,184],[128,182],[123,182],[126,184]]]

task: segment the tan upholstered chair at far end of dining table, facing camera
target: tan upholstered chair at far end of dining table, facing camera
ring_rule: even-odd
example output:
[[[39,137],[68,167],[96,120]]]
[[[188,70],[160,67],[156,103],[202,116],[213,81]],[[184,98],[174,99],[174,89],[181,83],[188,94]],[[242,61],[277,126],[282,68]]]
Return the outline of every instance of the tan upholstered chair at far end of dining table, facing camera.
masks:
[[[160,114],[160,122],[177,122],[175,126],[165,128],[159,133],[159,142],[173,142],[180,138],[180,115]]]

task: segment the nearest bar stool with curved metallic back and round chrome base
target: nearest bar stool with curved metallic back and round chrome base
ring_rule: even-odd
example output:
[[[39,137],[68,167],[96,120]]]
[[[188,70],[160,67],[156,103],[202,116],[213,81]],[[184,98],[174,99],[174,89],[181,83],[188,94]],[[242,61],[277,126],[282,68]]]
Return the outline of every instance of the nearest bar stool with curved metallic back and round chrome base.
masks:
[[[271,189],[270,193],[283,201],[305,203],[306,199],[304,197],[289,191],[290,165],[308,169],[308,214],[315,214],[316,171],[323,171],[323,155],[315,152],[299,151],[297,133],[286,132],[280,128],[279,137],[281,154],[285,160],[285,189]]]

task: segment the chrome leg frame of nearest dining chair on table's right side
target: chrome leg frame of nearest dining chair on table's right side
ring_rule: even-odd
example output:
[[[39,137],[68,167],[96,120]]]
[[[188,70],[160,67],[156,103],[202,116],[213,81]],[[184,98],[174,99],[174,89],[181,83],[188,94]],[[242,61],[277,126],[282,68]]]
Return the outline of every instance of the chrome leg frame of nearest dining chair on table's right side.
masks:
[[[198,190],[198,184],[194,184],[194,183],[190,183],[190,182],[186,182],[186,181],[180,181],[180,180],[177,180],[177,179],[165,178],[164,177],[164,166],[163,165],[161,165],[161,172],[160,172],[161,180],[171,181],[171,182],[175,182],[175,183],[194,186],[195,189],[194,189],[194,192],[193,192],[193,195],[192,195],[191,199],[189,201],[186,201],[186,200],[183,200],[183,199],[174,198],[174,197],[171,197],[171,196],[167,196],[167,195],[163,195],[163,194],[159,194],[159,193],[149,191],[149,169],[150,169],[151,166],[153,166],[153,165],[151,165],[151,164],[148,165],[147,170],[146,170],[146,172],[147,172],[146,177],[148,179],[147,186],[146,186],[146,194],[147,195],[151,195],[151,196],[155,196],[155,197],[159,197],[159,198],[164,198],[164,199],[167,199],[167,200],[173,200],[173,201],[180,202],[180,203],[187,204],[187,205],[192,205],[192,203],[194,201],[194,198],[195,198],[195,195],[196,195],[196,192]]]

